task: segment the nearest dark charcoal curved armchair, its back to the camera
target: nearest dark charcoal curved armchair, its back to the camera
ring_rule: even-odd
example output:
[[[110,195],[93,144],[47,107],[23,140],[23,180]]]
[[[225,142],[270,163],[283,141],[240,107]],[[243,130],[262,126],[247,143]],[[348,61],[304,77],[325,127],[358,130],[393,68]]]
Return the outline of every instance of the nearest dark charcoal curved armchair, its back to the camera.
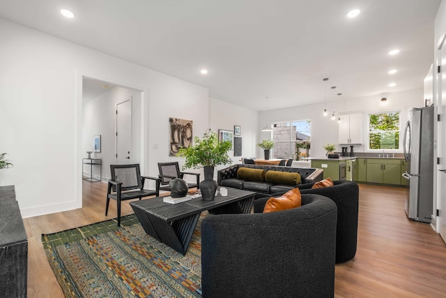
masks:
[[[336,218],[321,195],[302,195],[302,207],[286,211],[206,217],[203,297],[333,297]]]

